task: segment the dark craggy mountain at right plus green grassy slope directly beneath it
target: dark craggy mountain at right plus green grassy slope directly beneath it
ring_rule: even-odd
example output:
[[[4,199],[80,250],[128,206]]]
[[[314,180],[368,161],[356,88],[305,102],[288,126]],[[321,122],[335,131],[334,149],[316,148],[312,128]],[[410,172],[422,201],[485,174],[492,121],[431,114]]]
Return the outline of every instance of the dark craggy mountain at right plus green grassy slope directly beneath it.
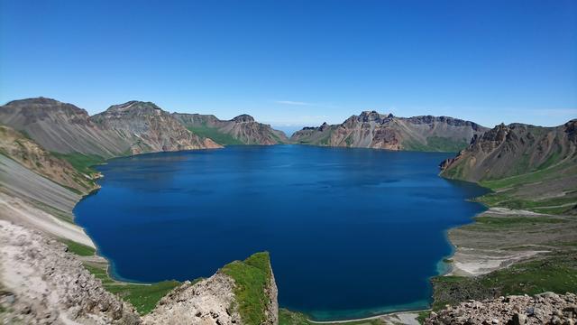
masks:
[[[577,120],[556,127],[498,125],[476,136],[441,175],[494,190],[490,206],[577,213]]]

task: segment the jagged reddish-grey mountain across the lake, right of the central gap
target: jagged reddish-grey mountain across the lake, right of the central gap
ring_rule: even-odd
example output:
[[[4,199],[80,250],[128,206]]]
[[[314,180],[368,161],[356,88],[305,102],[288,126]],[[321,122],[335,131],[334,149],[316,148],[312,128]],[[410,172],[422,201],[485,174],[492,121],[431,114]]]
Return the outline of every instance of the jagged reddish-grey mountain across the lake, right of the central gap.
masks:
[[[453,152],[487,128],[446,116],[397,117],[375,111],[351,116],[340,125],[305,127],[291,136],[300,144],[389,150]]]

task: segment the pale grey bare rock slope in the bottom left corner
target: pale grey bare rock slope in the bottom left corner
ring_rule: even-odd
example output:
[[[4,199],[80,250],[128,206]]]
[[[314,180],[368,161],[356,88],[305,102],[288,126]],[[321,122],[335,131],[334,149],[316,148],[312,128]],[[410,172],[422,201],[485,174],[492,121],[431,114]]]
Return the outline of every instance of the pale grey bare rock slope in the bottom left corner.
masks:
[[[105,291],[67,247],[0,220],[3,323],[139,324],[133,307]]]

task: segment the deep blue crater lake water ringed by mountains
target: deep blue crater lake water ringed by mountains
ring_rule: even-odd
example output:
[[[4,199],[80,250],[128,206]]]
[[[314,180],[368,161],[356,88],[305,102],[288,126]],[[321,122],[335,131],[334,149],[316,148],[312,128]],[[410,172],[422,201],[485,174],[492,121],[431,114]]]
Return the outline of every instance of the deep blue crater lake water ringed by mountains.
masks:
[[[423,308],[450,255],[448,228],[484,193],[437,176],[451,153],[302,145],[154,153],[98,167],[78,203],[119,278],[210,276],[268,250],[281,306],[316,319]]]

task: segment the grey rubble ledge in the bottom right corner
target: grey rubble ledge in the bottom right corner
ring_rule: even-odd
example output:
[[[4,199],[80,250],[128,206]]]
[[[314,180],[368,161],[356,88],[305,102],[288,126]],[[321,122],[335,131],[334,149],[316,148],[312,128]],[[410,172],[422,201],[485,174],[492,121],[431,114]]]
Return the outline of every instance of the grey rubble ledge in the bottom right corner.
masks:
[[[508,296],[482,302],[469,301],[431,312],[425,324],[574,324],[577,296],[544,292],[536,296]]]

